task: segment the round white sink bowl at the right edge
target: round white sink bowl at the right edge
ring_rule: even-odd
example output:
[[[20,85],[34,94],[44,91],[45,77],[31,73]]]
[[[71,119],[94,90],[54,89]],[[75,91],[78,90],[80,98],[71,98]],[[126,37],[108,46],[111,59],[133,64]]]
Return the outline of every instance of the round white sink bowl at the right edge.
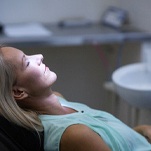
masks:
[[[151,109],[151,71],[145,63],[118,68],[113,72],[112,80],[115,91],[123,100],[138,108]]]

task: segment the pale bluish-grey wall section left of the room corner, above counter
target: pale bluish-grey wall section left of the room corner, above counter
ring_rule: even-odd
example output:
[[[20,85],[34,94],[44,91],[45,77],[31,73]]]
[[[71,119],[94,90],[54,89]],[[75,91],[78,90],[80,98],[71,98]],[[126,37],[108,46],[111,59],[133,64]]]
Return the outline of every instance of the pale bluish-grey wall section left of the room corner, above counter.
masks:
[[[1,0],[0,22],[58,22],[68,17],[101,18],[109,5],[118,0]]]

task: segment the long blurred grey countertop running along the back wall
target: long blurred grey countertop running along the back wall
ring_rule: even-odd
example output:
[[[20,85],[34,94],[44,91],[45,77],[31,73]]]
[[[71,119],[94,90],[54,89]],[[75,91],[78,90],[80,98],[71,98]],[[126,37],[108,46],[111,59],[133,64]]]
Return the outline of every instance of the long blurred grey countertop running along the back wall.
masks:
[[[51,34],[8,36],[0,35],[0,43],[9,45],[83,45],[83,44],[110,44],[127,41],[144,41],[151,39],[151,33],[139,30],[118,31],[100,24],[82,27],[60,27],[58,25],[43,25]]]

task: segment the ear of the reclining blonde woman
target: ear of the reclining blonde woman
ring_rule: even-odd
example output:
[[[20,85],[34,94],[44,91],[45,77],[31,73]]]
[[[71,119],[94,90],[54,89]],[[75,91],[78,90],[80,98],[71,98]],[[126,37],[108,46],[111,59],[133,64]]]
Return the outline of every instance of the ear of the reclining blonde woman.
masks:
[[[28,93],[20,87],[13,87],[13,96],[15,100],[23,100],[28,97]]]

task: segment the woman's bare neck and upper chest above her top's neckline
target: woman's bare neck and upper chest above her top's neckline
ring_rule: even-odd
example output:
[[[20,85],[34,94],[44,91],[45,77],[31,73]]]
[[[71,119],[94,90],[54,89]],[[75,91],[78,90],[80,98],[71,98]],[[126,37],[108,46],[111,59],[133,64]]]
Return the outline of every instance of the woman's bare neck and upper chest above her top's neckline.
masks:
[[[53,93],[41,97],[30,96],[22,101],[20,105],[39,114],[63,115],[75,112],[73,109],[61,106],[58,97]]]

